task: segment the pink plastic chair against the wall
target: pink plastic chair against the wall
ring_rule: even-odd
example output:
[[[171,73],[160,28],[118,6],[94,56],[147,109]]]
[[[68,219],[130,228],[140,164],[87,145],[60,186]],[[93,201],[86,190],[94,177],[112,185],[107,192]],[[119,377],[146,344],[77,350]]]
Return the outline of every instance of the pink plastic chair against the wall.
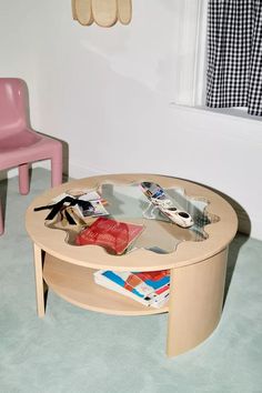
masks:
[[[52,187],[62,182],[62,144],[29,125],[27,84],[17,78],[0,78],[0,171],[18,167],[19,191],[29,192],[29,163],[51,160]],[[3,233],[0,201],[0,234]]]

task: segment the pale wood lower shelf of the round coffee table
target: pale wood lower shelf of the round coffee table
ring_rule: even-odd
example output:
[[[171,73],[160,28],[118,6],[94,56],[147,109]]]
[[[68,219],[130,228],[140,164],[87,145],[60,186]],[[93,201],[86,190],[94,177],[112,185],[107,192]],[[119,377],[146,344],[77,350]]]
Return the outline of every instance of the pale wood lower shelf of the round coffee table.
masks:
[[[43,279],[59,296],[82,309],[115,315],[147,315],[168,312],[154,309],[95,284],[93,269],[68,263],[46,254]]]

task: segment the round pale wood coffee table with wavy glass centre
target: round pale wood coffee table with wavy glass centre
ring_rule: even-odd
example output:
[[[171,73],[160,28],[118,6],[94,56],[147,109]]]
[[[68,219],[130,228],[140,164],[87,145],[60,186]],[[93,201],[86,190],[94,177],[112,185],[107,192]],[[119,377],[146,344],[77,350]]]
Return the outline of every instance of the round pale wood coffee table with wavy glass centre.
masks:
[[[165,190],[175,190],[180,202],[185,201],[193,212],[204,205],[209,221],[199,229],[182,229],[168,222],[139,218],[134,188],[127,196],[119,187],[150,181]],[[145,230],[139,238],[138,248],[124,255],[109,254],[97,245],[75,246],[67,241],[67,233],[50,229],[44,219],[48,211],[33,211],[47,205],[52,199],[70,189],[95,189],[107,185],[118,190],[115,219],[143,221]],[[120,191],[119,191],[120,190]],[[182,191],[184,191],[184,194]],[[137,191],[135,191],[137,192]],[[122,199],[122,200],[121,200]],[[127,201],[125,201],[127,200]],[[125,206],[127,202],[127,208]],[[114,203],[114,202],[113,202]],[[121,209],[120,209],[121,208]],[[127,214],[127,211],[128,214]],[[132,211],[133,209],[133,211]],[[137,209],[137,210],[135,210]],[[213,220],[212,220],[213,218]],[[37,305],[39,316],[44,315],[44,295],[48,288],[67,301],[83,309],[121,315],[145,315],[169,313],[169,356],[183,353],[205,340],[219,323],[226,272],[228,246],[235,235],[238,220],[234,210],[219,194],[208,188],[171,177],[153,174],[114,174],[74,180],[61,184],[34,199],[26,215],[27,231],[33,242]],[[173,239],[173,240],[172,240]],[[147,244],[155,243],[167,252],[154,252]],[[173,243],[172,243],[173,242]],[[173,244],[173,250],[172,245]],[[171,246],[171,249],[170,249]],[[150,250],[149,250],[150,249]],[[147,308],[119,293],[97,285],[93,272],[100,269],[113,271],[157,271],[170,269],[170,300],[161,309]]]

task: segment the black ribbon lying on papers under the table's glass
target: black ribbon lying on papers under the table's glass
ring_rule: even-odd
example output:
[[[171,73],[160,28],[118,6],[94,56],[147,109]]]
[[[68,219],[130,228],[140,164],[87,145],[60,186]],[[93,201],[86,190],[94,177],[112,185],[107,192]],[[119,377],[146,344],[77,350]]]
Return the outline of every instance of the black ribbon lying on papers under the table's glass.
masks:
[[[88,210],[90,212],[94,211],[91,202],[82,201],[82,200],[71,198],[71,196],[66,196],[61,201],[53,203],[53,204],[48,204],[46,206],[34,208],[33,211],[38,212],[40,210],[51,209],[51,212],[46,216],[46,220],[53,220],[54,216],[64,208],[64,205],[68,208],[68,206],[74,206],[75,204],[78,204],[82,210]],[[66,216],[67,216],[68,222],[70,224],[75,224],[74,220],[71,218],[71,215],[69,213],[67,213],[67,211],[66,211]]]

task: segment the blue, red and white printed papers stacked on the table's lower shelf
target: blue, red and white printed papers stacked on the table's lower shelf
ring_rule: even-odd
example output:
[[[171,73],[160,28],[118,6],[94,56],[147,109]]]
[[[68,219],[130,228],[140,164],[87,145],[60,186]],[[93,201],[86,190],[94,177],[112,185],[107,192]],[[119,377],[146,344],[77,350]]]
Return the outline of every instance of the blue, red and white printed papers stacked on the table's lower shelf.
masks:
[[[169,300],[169,270],[135,273],[99,270],[94,281],[147,306],[160,308]]]

